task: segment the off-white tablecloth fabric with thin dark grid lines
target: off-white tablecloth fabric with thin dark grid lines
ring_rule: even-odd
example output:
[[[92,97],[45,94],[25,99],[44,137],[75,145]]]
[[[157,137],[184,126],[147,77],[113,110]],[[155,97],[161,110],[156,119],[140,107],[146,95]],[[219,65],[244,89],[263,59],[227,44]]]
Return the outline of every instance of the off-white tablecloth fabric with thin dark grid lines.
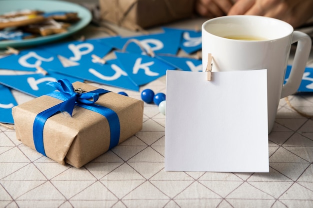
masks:
[[[145,87],[165,92],[164,82]],[[31,99],[14,94],[18,102]],[[302,111],[313,106],[312,95],[289,100]],[[269,134],[269,173],[165,172],[164,118],[145,104],[143,129],[80,169],[42,156],[0,127],[0,207],[313,207],[313,121],[283,99]]]

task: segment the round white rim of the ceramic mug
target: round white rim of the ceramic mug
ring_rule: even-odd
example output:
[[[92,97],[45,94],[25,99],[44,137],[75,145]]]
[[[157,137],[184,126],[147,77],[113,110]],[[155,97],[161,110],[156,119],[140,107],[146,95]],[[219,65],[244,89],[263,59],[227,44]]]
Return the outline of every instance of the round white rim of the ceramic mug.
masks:
[[[283,24],[285,28],[287,28],[289,30],[288,33],[286,33],[285,35],[281,35],[277,38],[269,38],[269,39],[264,39],[264,40],[238,40],[238,39],[229,39],[229,38],[225,38],[225,37],[222,37],[222,36],[219,36],[219,35],[216,35],[216,34],[213,34],[212,32],[210,31],[207,31],[207,29],[205,28],[205,26],[207,26],[208,24],[211,24],[211,23],[214,23],[214,22],[218,22],[219,20],[227,20],[229,19],[229,23],[231,23],[231,19],[267,19],[269,21],[272,21],[272,22],[278,22],[279,24]],[[266,41],[271,41],[271,40],[276,40],[276,39],[281,39],[281,38],[284,38],[284,37],[287,37],[289,35],[292,34],[294,28],[287,22],[283,21],[283,20],[280,20],[280,19],[276,19],[276,18],[272,18],[272,17],[267,17],[267,16],[259,16],[259,15],[229,15],[229,16],[218,16],[218,17],[214,17],[214,18],[211,18],[211,19],[208,19],[206,21],[204,21],[202,23],[202,26],[201,26],[201,29],[202,29],[202,32],[206,32],[207,34],[210,34],[210,35],[213,35],[215,37],[219,37],[219,38],[223,38],[223,39],[227,39],[229,41],[242,41],[242,42],[246,42],[246,41],[249,41],[249,42],[266,42]]]

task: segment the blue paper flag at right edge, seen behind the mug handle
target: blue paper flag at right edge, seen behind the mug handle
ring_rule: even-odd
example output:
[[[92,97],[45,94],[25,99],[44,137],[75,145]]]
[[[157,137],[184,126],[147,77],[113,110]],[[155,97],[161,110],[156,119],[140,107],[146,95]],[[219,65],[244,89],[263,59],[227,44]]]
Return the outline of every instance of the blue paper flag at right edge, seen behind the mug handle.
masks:
[[[291,65],[287,65],[285,82],[287,81],[291,71]],[[284,82],[284,83],[285,83]],[[297,92],[313,92],[313,68],[305,67],[302,81]]]

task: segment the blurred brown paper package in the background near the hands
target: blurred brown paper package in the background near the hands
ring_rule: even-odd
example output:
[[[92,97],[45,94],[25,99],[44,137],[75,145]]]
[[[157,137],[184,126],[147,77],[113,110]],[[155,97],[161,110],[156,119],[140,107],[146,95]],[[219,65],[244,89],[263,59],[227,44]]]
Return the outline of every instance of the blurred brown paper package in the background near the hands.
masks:
[[[104,20],[140,30],[191,17],[194,0],[99,0]]]

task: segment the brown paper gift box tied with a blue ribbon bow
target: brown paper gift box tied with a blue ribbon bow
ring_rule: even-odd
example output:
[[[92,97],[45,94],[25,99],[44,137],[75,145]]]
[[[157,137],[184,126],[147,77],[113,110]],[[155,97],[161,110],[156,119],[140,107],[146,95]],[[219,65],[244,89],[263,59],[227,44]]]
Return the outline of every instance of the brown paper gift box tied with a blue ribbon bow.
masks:
[[[80,168],[142,128],[141,100],[81,82],[50,84],[57,90],[12,115],[17,140],[62,165]]]

